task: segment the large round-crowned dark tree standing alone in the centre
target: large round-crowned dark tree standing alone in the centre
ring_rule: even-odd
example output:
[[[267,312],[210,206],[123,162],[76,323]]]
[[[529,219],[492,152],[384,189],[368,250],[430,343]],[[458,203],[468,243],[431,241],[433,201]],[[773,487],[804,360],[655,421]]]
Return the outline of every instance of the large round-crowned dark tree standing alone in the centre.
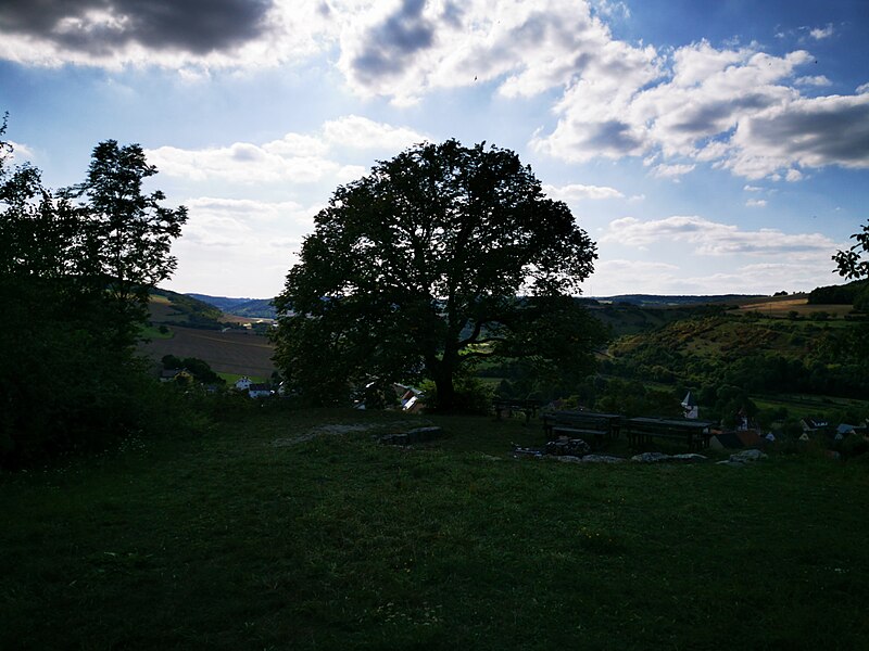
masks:
[[[276,361],[308,397],[425,375],[451,409],[483,358],[590,368],[602,332],[572,296],[594,243],[514,152],[410,149],[338,188],[315,225],[275,299]]]

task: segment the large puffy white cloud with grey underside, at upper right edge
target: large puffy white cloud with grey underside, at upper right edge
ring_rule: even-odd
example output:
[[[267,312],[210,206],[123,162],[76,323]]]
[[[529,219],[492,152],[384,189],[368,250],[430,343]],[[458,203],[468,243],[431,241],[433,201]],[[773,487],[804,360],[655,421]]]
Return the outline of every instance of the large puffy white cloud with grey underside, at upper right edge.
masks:
[[[806,51],[773,56],[756,46],[701,41],[676,49],[669,65],[654,52],[632,54],[630,73],[587,72],[568,87],[555,106],[557,125],[531,144],[569,162],[663,157],[653,174],[665,177],[688,170],[685,158],[750,179],[793,179],[796,167],[869,167],[869,97],[803,97],[797,86],[830,84],[822,75],[795,77],[814,61]]]

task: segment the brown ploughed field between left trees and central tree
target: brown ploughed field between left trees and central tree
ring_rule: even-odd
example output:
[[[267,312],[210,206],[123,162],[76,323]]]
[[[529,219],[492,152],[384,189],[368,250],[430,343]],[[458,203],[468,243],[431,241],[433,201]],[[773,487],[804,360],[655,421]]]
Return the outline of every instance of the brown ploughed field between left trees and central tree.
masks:
[[[141,344],[141,350],[160,360],[164,355],[198,357],[216,372],[268,378],[275,370],[274,345],[264,336],[249,332],[219,332],[194,328],[169,327],[171,339]]]

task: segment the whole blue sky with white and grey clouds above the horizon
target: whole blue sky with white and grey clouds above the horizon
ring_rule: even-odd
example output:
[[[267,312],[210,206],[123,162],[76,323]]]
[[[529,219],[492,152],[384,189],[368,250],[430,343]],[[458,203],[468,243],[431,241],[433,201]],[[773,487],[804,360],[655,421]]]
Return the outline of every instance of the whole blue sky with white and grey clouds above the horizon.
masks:
[[[869,204],[867,0],[3,0],[0,112],[52,188],[139,143],[178,292],[272,297],[341,184],[414,144],[519,154],[589,296],[843,282]]]

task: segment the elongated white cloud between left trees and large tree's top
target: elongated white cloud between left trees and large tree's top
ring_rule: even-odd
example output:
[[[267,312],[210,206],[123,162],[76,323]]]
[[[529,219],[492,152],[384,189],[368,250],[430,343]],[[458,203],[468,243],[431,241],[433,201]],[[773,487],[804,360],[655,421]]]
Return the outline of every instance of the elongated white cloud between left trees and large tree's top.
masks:
[[[236,142],[203,150],[161,146],[147,154],[162,174],[193,181],[313,183],[331,177],[345,182],[362,176],[366,168],[339,163],[336,157],[342,150],[395,153],[426,140],[425,135],[405,127],[350,115],[325,123],[317,133],[287,133],[261,144]]]

